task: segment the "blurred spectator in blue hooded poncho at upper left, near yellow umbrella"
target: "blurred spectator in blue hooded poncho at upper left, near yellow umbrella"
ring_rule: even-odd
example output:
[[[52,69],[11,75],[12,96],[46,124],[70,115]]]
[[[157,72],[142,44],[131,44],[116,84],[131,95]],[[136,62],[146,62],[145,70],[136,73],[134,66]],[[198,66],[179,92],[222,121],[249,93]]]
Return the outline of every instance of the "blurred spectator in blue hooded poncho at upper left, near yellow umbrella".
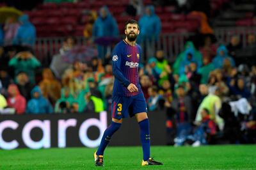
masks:
[[[36,42],[36,29],[31,22],[29,22],[28,15],[22,15],[19,17],[20,27],[17,34],[13,38],[13,44],[15,45],[28,45],[33,47]]]

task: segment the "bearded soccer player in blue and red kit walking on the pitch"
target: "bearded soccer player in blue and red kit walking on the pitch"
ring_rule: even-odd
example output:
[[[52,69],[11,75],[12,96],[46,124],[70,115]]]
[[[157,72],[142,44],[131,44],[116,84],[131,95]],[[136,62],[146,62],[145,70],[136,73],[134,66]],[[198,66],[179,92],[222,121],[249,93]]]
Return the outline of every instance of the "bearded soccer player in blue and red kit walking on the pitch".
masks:
[[[125,40],[119,42],[113,51],[113,102],[111,105],[112,122],[105,130],[100,146],[94,153],[95,166],[103,166],[104,150],[112,135],[122,125],[123,118],[135,116],[140,125],[140,138],[143,148],[141,166],[163,165],[150,158],[150,133],[147,116],[147,104],[139,84],[138,66],[141,47],[136,43],[140,33],[138,22],[129,20],[125,23]]]

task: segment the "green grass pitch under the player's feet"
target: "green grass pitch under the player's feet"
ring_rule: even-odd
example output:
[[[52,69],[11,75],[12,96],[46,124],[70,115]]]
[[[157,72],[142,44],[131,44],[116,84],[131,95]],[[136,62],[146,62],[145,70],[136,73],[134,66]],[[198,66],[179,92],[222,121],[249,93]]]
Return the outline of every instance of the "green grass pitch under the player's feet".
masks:
[[[0,150],[0,169],[256,169],[256,145],[152,146],[163,166],[141,167],[141,147],[108,147],[104,167],[95,167],[90,148]]]

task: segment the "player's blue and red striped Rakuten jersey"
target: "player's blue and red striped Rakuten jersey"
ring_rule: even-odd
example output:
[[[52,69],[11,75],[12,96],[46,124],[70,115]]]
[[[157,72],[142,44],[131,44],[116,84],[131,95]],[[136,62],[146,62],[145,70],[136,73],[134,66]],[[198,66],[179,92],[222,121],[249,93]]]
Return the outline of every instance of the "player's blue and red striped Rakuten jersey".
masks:
[[[113,96],[131,97],[142,93],[139,82],[139,63],[141,58],[141,47],[129,45],[125,40],[116,44],[113,50],[113,75],[115,82]],[[131,93],[127,87],[130,83],[135,84],[138,92]]]

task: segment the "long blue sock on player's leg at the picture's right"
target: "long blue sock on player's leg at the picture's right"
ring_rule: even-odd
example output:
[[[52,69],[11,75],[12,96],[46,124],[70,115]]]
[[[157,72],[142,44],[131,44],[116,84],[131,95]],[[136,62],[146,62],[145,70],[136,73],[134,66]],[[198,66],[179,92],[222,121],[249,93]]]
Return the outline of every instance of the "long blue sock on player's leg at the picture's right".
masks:
[[[150,157],[150,134],[148,119],[139,122],[140,125],[140,141],[143,149],[143,160]]]

